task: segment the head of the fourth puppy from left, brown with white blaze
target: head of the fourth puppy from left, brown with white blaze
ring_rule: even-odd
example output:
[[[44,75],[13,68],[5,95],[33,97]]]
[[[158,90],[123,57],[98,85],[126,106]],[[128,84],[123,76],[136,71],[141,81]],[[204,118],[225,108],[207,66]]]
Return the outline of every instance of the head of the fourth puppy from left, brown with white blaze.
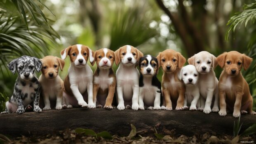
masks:
[[[111,68],[113,66],[114,59],[115,54],[112,50],[102,48],[100,50],[95,51],[94,61],[92,62],[92,65],[94,65],[96,61],[98,68]]]

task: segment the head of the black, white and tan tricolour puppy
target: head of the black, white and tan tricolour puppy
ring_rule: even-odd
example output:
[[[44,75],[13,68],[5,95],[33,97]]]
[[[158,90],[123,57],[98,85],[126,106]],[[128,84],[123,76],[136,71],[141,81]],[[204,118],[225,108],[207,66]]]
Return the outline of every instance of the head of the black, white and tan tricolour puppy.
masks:
[[[158,71],[158,61],[152,55],[146,55],[140,58],[140,72],[143,76],[154,76]]]

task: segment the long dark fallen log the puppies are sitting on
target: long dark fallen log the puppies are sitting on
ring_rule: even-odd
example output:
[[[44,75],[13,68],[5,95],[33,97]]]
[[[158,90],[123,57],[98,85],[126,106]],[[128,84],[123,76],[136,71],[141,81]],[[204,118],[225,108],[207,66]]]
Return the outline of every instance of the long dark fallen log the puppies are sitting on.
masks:
[[[48,110],[42,113],[26,112],[0,115],[0,134],[11,136],[29,136],[52,134],[67,128],[88,128],[101,132],[127,136],[130,124],[137,131],[154,133],[154,127],[161,130],[175,129],[176,135],[191,136],[195,133],[216,132],[217,134],[233,135],[233,124],[237,118],[228,114],[221,117],[218,113],[205,114],[199,111],[133,111],[118,109],[65,109]],[[256,116],[242,115],[241,131],[256,123]]]

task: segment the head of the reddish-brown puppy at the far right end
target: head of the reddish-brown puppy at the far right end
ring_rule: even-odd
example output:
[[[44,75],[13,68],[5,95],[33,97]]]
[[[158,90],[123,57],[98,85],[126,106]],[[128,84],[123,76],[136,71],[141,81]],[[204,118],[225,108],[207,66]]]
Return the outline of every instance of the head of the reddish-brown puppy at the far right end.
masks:
[[[221,68],[224,67],[224,71],[226,71],[228,75],[237,76],[242,66],[244,66],[245,71],[249,68],[252,58],[237,51],[231,51],[220,54],[217,57],[217,61]]]

